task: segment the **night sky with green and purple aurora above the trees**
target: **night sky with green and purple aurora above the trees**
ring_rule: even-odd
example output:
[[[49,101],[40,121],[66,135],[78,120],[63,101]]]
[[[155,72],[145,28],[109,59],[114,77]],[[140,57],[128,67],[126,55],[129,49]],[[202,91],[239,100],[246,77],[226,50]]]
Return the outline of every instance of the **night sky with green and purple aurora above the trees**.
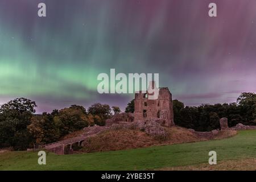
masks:
[[[97,93],[97,75],[110,68],[159,73],[186,105],[235,102],[256,91],[255,32],[254,0],[1,0],[0,104],[26,97],[38,113],[95,102],[123,109],[133,94]]]

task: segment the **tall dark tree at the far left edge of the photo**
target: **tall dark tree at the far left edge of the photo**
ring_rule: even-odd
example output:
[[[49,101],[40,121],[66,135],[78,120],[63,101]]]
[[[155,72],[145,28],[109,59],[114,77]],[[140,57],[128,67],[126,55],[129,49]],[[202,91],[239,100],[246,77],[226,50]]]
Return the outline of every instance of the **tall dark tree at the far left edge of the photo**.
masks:
[[[27,131],[36,104],[27,98],[16,98],[0,107],[0,147],[26,150],[32,138]]]

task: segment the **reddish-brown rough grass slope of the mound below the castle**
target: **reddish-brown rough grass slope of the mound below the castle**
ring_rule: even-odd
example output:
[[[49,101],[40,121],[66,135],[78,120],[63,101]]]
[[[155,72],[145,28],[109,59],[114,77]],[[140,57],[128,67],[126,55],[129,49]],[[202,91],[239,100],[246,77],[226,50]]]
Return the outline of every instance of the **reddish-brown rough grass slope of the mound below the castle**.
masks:
[[[131,148],[188,143],[208,140],[208,138],[199,137],[192,131],[183,127],[165,128],[166,138],[153,137],[143,131],[131,129],[119,129],[104,131],[95,137],[90,137],[82,143],[80,152],[98,152],[126,150]],[[215,139],[228,138],[236,135],[236,131],[220,131]]]

